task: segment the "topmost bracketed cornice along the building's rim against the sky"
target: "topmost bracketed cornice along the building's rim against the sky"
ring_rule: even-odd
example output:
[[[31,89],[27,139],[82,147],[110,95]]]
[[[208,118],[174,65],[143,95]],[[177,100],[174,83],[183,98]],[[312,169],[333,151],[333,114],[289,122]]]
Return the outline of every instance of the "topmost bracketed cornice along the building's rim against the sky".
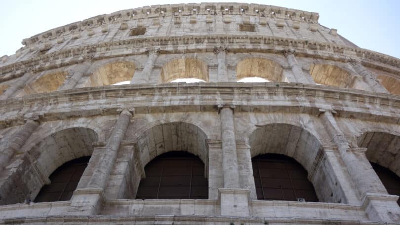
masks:
[[[228,10],[225,10],[228,8]],[[243,9],[243,10],[242,10]],[[31,38],[25,38],[22,43],[30,45],[37,41],[60,36],[65,32],[91,29],[101,25],[122,23],[128,20],[158,18],[165,16],[191,15],[251,15],[276,19],[288,19],[305,23],[318,23],[319,14],[303,10],[284,8],[273,5],[248,4],[240,2],[204,2],[189,4],[152,5],[135,9],[125,9],[110,14],[97,15],[82,21],[54,28]]]

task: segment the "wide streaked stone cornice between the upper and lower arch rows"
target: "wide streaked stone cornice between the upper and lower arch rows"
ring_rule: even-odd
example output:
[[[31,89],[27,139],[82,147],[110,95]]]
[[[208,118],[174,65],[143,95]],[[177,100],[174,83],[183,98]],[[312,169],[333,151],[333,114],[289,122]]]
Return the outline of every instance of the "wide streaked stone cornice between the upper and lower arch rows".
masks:
[[[38,115],[40,122],[44,122],[116,115],[120,108],[133,107],[137,115],[217,113],[217,106],[223,103],[235,106],[235,113],[287,112],[318,116],[320,109],[327,109],[337,111],[337,116],[344,118],[400,123],[400,96],[397,95],[300,83],[227,82],[105,86],[11,98],[0,101],[0,128],[20,124],[24,116]]]

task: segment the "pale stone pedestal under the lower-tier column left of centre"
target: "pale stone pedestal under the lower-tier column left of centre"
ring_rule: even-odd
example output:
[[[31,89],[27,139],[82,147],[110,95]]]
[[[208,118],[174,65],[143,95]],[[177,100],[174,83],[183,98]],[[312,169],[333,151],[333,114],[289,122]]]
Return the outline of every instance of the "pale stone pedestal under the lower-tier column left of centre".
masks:
[[[100,188],[84,188],[74,191],[71,198],[70,215],[96,215],[105,201],[104,192]]]

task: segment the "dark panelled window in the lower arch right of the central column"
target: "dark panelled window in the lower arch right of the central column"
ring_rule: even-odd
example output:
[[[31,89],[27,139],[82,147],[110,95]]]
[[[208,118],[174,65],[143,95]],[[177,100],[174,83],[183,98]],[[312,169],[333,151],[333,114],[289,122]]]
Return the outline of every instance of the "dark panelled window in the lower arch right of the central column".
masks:
[[[254,182],[259,200],[318,201],[307,171],[293,158],[282,154],[253,157]]]

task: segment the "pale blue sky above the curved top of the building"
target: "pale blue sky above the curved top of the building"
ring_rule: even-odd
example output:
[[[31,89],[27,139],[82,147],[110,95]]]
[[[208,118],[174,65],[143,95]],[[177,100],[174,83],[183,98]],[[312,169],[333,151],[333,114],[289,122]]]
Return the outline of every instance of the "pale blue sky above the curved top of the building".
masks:
[[[220,0],[224,1],[224,0]],[[0,56],[12,55],[21,41],[52,28],[99,14],[144,5],[193,0],[1,0]],[[232,2],[228,0],[227,2]],[[251,0],[320,13],[320,24],[366,48],[400,58],[400,0]]]

